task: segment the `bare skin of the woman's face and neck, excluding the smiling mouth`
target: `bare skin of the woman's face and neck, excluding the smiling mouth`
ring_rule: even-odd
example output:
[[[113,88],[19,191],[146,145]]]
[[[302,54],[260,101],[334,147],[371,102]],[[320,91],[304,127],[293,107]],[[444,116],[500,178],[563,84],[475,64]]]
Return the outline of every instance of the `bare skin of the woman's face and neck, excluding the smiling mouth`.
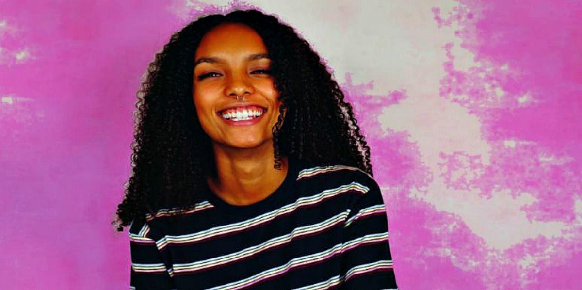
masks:
[[[267,198],[288,171],[274,167],[272,127],[279,116],[279,91],[269,73],[271,61],[262,38],[244,24],[221,24],[196,50],[193,100],[204,132],[212,139],[217,178],[208,185],[226,203],[244,206]],[[217,112],[247,104],[267,108],[259,122],[233,126]]]

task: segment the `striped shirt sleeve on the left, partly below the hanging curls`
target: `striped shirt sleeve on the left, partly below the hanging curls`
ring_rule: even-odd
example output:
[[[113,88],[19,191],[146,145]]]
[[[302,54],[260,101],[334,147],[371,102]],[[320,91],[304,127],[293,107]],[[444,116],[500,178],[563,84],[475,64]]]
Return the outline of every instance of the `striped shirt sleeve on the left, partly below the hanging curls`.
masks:
[[[147,222],[132,223],[129,241],[132,256],[130,289],[175,289],[171,262],[158,250]]]

